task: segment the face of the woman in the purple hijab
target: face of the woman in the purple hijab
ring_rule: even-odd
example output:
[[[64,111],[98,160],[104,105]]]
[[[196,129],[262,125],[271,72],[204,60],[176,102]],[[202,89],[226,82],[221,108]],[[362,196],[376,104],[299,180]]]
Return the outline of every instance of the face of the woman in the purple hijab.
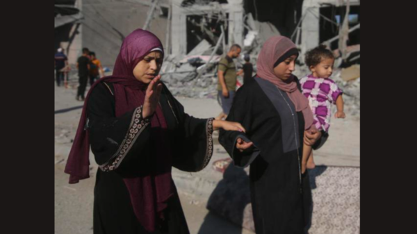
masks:
[[[133,76],[138,81],[149,84],[161,70],[162,62],[162,53],[160,51],[152,51],[133,68]]]

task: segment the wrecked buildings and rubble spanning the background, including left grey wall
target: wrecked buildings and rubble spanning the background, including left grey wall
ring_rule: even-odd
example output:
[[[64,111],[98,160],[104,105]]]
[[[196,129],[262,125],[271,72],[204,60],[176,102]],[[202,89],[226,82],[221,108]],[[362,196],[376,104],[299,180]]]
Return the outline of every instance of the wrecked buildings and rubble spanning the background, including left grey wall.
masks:
[[[349,90],[347,104],[352,101],[359,113],[360,0],[56,0],[56,48],[67,47],[70,63],[82,44],[111,67],[124,37],[136,28],[161,39],[163,81],[186,97],[216,96],[217,62],[231,44],[250,54],[256,71],[263,42],[272,35],[290,37],[300,49],[299,77],[309,73],[306,51],[326,44],[337,57],[333,78]]]

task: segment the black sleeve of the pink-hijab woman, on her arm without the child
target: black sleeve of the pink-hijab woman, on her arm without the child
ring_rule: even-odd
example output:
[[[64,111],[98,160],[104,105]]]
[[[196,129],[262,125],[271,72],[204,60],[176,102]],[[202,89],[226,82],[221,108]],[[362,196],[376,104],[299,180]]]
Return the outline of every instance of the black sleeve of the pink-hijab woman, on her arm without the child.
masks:
[[[219,142],[226,149],[229,156],[234,160],[234,165],[238,167],[249,166],[255,158],[259,155],[259,148],[253,144],[253,147],[240,152],[236,149],[236,142],[238,138],[242,138],[245,142],[251,142],[250,135],[253,133],[251,123],[253,116],[251,115],[252,101],[248,95],[248,90],[245,87],[240,87],[236,96],[234,97],[227,121],[238,122],[245,128],[246,133],[239,131],[224,131],[220,129]]]

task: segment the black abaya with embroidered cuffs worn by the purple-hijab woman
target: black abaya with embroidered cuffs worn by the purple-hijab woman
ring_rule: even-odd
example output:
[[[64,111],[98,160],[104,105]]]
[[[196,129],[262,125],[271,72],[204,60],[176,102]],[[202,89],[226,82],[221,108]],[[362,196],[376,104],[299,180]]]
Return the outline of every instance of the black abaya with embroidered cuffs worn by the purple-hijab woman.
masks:
[[[91,149],[96,162],[106,171],[99,169],[97,172],[94,233],[148,233],[133,212],[123,178],[147,174],[152,167],[158,167],[158,162],[152,160],[152,147],[157,143],[149,142],[149,122],[142,119],[141,115],[136,115],[141,107],[115,117],[113,93],[111,83],[100,83],[92,90],[87,108]],[[187,115],[165,86],[160,105],[167,122],[173,166],[188,172],[203,169],[213,153],[212,119],[197,119]],[[120,150],[128,143],[126,140],[129,140],[133,124],[138,124],[135,126],[138,131],[133,131],[136,137],[124,149],[126,152],[121,154]],[[165,221],[158,220],[155,233],[189,233],[176,190],[164,212]]]

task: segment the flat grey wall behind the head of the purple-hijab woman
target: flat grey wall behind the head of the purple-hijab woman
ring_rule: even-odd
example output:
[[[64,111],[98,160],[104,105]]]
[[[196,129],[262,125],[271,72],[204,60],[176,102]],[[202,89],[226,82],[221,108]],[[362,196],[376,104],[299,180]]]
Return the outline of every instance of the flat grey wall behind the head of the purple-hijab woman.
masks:
[[[83,47],[95,51],[105,66],[113,66],[126,35],[142,28],[152,0],[83,0]],[[168,0],[159,0],[167,5]],[[148,30],[165,44],[167,18],[156,8]],[[81,55],[81,51],[79,51]]]

